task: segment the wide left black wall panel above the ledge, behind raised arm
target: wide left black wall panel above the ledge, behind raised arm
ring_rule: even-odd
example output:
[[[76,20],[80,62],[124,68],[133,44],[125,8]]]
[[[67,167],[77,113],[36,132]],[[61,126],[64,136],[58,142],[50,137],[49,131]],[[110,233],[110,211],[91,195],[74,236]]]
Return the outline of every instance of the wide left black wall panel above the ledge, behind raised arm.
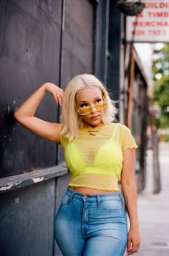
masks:
[[[1,1],[1,177],[57,162],[57,146],[28,132],[13,115],[42,83],[58,83],[61,2]],[[57,106],[50,96],[44,98],[37,114],[57,121]]]

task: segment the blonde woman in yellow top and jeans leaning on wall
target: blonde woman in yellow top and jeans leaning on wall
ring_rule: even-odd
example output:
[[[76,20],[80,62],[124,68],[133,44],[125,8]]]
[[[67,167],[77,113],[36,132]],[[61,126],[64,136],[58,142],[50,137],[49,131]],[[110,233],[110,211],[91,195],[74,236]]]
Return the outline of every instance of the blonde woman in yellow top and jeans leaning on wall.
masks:
[[[34,116],[47,92],[62,106],[61,124]],[[54,224],[64,256],[122,256],[126,247],[127,255],[132,255],[140,246],[134,177],[137,145],[125,125],[113,122],[116,113],[105,87],[87,74],[74,77],[65,92],[44,83],[16,111],[24,127],[64,149],[71,179]]]

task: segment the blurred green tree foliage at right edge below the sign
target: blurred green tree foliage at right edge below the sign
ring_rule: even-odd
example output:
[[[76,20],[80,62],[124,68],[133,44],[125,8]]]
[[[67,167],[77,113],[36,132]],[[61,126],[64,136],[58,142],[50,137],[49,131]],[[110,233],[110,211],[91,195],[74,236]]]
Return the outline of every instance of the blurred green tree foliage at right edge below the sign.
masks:
[[[153,54],[154,104],[160,106],[158,127],[169,127],[169,45]]]

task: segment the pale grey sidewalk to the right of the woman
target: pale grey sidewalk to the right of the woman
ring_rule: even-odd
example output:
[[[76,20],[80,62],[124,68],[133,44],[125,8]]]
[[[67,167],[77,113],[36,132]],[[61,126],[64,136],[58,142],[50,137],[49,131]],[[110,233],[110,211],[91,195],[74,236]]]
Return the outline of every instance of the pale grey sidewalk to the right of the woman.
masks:
[[[148,150],[146,188],[138,195],[141,247],[137,256],[169,255],[169,143],[160,143],[161,192],[153,194],[153,155]]]

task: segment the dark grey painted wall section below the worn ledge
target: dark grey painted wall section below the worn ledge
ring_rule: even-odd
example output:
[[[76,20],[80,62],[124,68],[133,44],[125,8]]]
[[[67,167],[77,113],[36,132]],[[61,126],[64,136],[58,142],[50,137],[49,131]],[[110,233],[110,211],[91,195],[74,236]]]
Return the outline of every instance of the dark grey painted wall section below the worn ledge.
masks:
[[[1,256],[59,255],[54,216],[68,180],[64,175],[0,195]]]

